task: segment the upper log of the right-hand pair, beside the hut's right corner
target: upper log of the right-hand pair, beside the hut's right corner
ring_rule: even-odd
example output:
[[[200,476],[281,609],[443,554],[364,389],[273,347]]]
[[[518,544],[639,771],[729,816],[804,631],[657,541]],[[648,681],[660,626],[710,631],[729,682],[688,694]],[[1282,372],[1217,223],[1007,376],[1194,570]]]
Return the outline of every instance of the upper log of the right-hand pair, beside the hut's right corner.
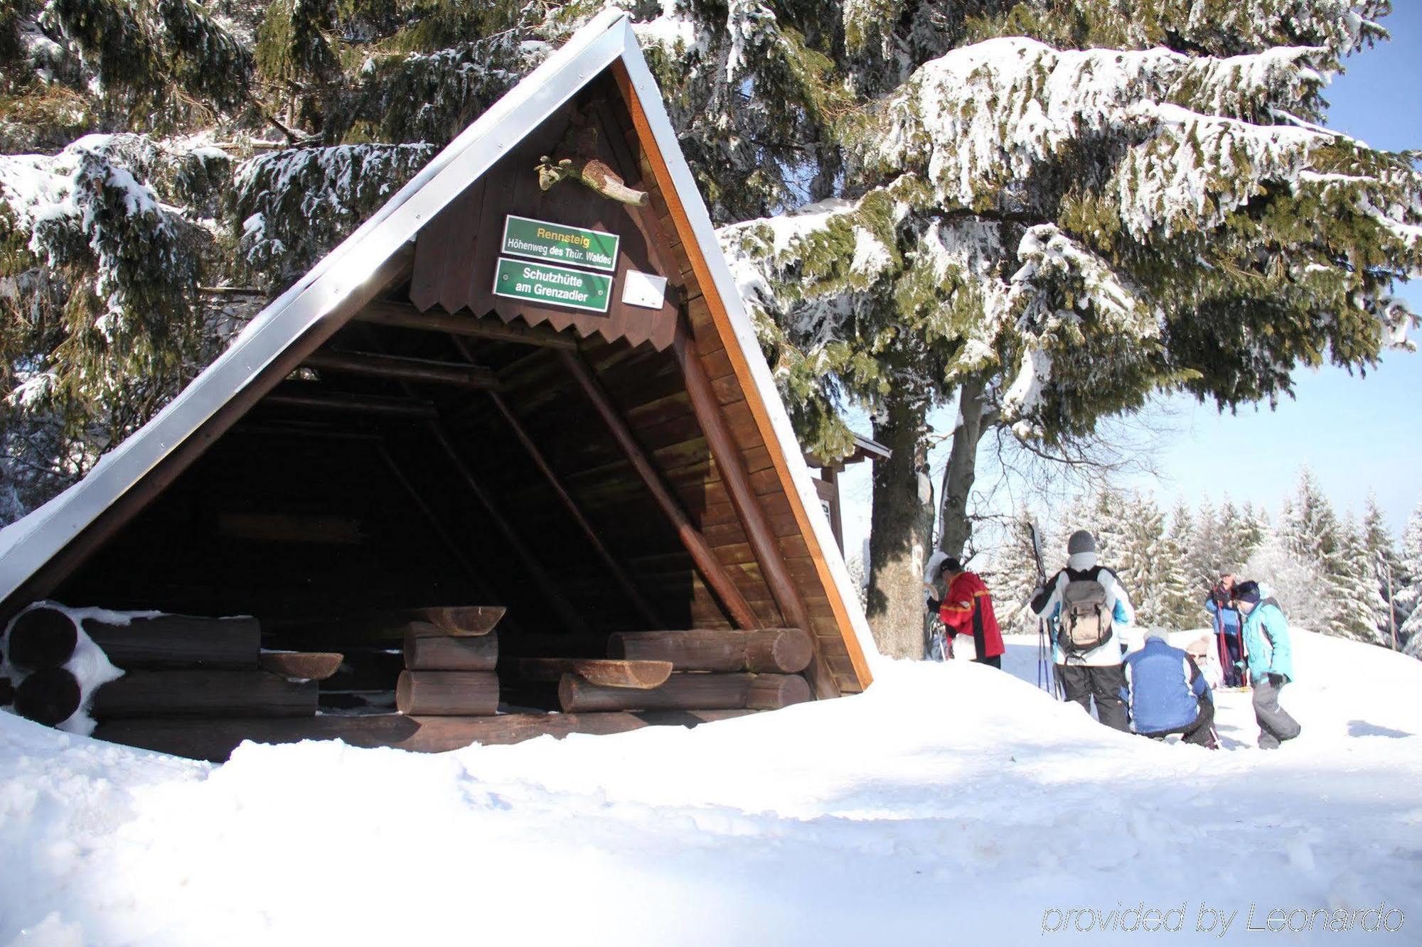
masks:
[[[607,654],[671,661],[678,671],[798,674],[809,667],[813,646],[802,628],[619,631],[607,638]]]

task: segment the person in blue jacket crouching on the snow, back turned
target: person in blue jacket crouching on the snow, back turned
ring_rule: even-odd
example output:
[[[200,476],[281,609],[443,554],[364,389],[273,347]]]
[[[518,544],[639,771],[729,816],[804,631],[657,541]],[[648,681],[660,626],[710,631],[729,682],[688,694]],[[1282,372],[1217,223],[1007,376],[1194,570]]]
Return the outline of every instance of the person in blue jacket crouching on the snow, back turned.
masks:
[[[1180,734],[1187,744],[1214,748],[1214,695],[1193,657],[1150,631],[1145,647],[1128,654],[1125,663],[1130,722],[1138,734],[1155,739]]]

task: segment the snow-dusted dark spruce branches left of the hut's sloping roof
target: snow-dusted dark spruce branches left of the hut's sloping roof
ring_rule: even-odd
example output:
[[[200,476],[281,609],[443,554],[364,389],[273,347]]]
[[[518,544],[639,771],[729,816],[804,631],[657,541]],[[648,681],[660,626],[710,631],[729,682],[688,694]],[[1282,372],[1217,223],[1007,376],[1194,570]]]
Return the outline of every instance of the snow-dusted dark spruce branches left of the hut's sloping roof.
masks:
[[[0,158],[4,522],[220,350],[199,286],[284,289],[596,6],[4,4],[0,152],[36,152]]]

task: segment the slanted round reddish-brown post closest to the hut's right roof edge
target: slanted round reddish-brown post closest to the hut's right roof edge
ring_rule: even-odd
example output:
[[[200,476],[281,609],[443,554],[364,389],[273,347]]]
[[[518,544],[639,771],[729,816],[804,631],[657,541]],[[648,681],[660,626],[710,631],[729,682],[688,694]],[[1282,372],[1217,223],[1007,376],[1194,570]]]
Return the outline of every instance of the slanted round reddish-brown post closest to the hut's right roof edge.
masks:
[[[815,688],[815,697],[839,697],[839,685],[835,684],[835,675],[830,674],[829,664],[825,663],[825,656],[820,653],[819,641],[815,638],[809,610],[805,607],[805,601],[795,587],[795,580],[785,565],[785,556],[781,555],[779,543],[771,530],[769,520],[765,518],[761,501],[751,486],[751,478],[745,472],[741,451],[731,435],[731,428],[727,425],[725,417],[721,414],[715,390],[711,387],[711,380],[707,378],[705,367],[701,364],[697,343],[691,337],[685,317],[683,317],[678,326],[671,348],[681,364],[681,374],[687,381],[687,394],[691,395],[691,408],[695,411],[697,421],[701,422],[701,431],[711,446],[711,456],[721,472],[721,481],[725,483],[727,492],[731,495],[731,505],[735,506],[735,512],[741,518],[741,525],[745,528],[745,535],[751,540],[751,549],[755,553],[755,560],[761,565],[765,584],[771,587],[775,603],[781,607],[781,613],[789,623],[811,633],[815,660],[805,675],[809,678],[811,687]]]

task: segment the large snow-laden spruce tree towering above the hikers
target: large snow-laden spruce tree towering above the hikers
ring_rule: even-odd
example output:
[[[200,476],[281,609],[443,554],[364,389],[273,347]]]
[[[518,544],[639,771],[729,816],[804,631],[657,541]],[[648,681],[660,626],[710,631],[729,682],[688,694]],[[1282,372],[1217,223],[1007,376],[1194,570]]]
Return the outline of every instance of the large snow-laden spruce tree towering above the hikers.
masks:
[[[1401,341],[1419,178],[1318,125],[1324,75],[1384,36],[1386,7],[840,9],[843,46],[819,48],[855,107],[823,102],[802,131],[835,135],[843,168],[805,165],[816,203],[721,236],[786,394],[820,402],[799,411],[828,421],[812,437],[833,449],[823,405],[862,398],[906,458],[876,482],[880,640],[921,567],[906,510],[929,407],[956,397],[970,441],[1010,425],[1049,446],[1159,388],[1274,400],[1297,364],[1367,365]],[[758,11],[757,36],[795,23]]]

